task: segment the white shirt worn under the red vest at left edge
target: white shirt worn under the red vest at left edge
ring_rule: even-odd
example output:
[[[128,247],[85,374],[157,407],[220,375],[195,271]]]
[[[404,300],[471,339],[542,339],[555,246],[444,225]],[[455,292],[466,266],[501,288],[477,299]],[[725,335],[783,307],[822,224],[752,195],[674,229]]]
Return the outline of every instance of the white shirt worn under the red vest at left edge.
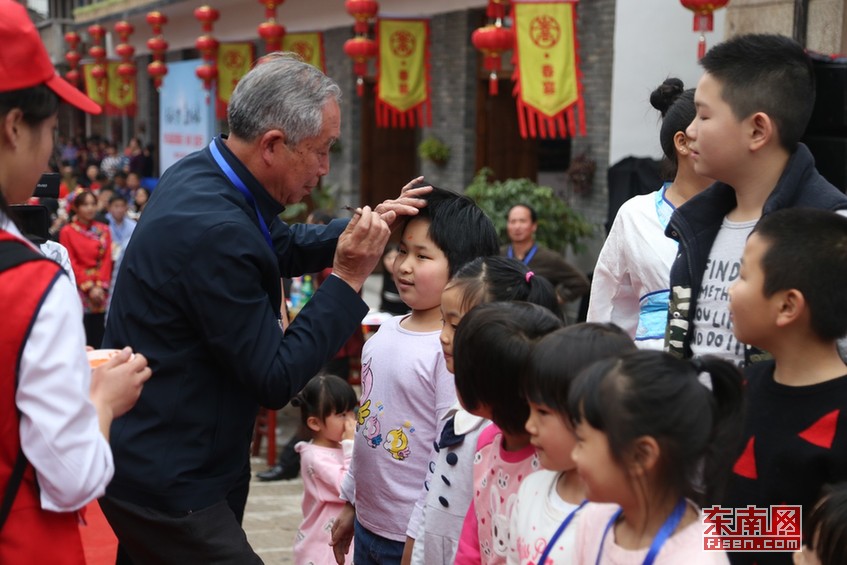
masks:
[[[0,228],[27,241],[2,213]],[[15,394],[21,445],[35,468],[45,510],[82,508],[103,495],[114,474],[90,388],[82,305],[62,276],[47,293],[24,345]]]

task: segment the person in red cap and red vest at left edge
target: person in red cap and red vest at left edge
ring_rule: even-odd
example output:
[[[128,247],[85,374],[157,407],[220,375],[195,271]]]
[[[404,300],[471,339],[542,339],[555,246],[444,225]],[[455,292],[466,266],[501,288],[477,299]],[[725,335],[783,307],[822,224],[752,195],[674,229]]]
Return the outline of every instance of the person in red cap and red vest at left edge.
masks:
[[[100,108],[56,74],[21,4],[0,14],[0,563],[83,564],[76,511],[105,491],[112,419],[150,369],[127,348],[91,371],[76,290],[12,220],[47,170],[60,98]]]

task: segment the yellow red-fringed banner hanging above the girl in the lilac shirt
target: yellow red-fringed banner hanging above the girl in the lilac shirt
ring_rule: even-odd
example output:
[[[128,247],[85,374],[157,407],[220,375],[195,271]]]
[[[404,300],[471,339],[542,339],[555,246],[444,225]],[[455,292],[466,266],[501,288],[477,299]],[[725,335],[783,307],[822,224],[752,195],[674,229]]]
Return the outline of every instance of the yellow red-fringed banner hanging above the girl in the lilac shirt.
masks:
[[[430,125],[429,20],[380,19],[377,43],[376,125]]]

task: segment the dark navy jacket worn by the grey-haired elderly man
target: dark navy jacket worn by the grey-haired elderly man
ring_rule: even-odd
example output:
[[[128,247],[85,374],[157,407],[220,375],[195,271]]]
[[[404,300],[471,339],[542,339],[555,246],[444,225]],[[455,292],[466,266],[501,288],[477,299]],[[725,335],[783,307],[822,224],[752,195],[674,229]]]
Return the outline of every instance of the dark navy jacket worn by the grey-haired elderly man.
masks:
[[[112,425],[107,495],[178,513],[229,498],[240,517],[259,405],[284,406],[359,330],[367,306],[331,276],[283,338],[280,276],[330,266],[346,222],[286,225],[282,206],[213,143],[255,198],[274,249],[208,147],[162,176],[126,249],[104,340],[130,345],[153,370]]]

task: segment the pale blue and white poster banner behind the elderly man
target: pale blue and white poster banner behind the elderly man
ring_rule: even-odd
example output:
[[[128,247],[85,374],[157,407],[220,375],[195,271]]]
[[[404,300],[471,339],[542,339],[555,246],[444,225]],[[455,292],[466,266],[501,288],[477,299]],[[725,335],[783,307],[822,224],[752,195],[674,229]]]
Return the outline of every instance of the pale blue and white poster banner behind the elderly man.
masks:
[[[215,100],[195,70],[201,59],[168,63],[159,93],[159,162],[162,173],[209,144],[215,131]]]

